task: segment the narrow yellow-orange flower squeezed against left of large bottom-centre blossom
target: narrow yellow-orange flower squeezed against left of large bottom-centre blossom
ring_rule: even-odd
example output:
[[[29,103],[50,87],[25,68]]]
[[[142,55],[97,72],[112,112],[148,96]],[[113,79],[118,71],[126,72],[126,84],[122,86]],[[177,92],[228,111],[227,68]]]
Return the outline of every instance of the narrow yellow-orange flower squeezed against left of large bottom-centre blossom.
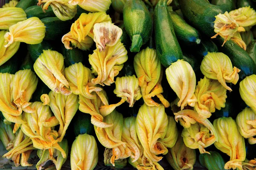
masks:
[[[131,150],[131,162],[137,161],[142,156],[143,148],[141,147],[136,131],[136,117],[127,117],[123,122],[122,141]]]

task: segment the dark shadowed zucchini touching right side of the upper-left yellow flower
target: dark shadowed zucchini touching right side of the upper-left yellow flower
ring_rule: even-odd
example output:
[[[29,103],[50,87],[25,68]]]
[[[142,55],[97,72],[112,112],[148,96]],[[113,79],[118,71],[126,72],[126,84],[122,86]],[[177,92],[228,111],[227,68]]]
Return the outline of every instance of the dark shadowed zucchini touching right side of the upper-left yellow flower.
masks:
[[[46,17],[41,19],[46,26],[46,33],[44,40],[56,40],[58,37],[62,37],[64,34],[70,31],[72,23],[62,21],[58,17]]]

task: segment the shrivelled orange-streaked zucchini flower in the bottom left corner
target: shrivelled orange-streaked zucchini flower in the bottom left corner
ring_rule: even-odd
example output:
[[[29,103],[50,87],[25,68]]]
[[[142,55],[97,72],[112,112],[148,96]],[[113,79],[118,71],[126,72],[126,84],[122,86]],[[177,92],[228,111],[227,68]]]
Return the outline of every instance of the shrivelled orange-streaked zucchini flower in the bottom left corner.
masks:
[[[32,164],[28,163],[28,159],[32,150],[35,149],[31,139],[24,135],[22,130],[18,130],[15,134],[12,150],[4,154],[3,157],[6,157],[7,159],[12,158],[16,167],[19,165],[23,167],[32,166]]]

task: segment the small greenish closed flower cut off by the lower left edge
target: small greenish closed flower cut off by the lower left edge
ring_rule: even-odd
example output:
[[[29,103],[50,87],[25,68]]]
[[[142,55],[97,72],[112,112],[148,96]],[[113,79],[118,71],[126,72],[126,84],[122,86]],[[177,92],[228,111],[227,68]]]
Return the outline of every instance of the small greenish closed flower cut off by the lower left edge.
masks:
[[[13,147],[13,140],[15,135],[12,133],[11,125],[6,125],[2,120],[0,120],[0,141],[9,150]]]

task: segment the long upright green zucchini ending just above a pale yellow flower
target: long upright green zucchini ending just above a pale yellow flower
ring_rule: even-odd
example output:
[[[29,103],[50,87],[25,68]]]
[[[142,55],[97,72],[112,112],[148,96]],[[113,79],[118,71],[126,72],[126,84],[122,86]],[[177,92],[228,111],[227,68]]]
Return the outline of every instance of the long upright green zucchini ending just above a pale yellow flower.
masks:
[[[157,56],[161,64],[167,68],[183,56],[169,17],[166,1],[160,0],[154,9],[154,37]]]

